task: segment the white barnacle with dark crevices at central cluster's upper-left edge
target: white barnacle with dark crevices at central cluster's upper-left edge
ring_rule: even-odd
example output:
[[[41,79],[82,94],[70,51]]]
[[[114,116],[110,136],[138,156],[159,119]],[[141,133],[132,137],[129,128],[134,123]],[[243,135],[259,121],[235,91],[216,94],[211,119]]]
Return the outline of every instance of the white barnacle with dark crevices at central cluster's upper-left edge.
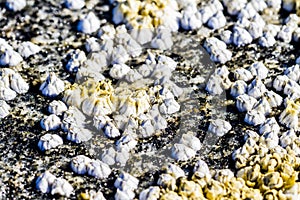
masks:
[[[71,57],[66,64],[66,69],[69,72],[77,72],[79,67],[87,60],[86,55],[83,51],[76,49],[69,53]]]

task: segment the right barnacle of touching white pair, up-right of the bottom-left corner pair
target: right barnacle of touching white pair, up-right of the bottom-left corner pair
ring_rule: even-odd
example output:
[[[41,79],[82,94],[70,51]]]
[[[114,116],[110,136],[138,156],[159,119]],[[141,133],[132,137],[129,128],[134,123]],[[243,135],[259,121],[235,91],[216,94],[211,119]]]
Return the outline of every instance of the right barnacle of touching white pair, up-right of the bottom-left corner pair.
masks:
[[[107,178],[111,173],[110,167],[100,160],[92,160],[91,162],[89,162],[87,165],[87,170],[90,176],[94,176],[100,179]]]

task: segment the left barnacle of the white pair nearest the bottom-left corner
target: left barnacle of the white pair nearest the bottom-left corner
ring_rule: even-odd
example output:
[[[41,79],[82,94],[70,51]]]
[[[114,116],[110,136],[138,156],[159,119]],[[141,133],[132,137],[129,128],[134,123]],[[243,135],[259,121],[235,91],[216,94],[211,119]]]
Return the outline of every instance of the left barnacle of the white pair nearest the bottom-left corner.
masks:
[[[45,171],[37,178],[35,187],[42,193],[49,193],[51,192],[52,184],[54,183],[55,179],[56,177],[53,174],[51,174],[49,171]]]

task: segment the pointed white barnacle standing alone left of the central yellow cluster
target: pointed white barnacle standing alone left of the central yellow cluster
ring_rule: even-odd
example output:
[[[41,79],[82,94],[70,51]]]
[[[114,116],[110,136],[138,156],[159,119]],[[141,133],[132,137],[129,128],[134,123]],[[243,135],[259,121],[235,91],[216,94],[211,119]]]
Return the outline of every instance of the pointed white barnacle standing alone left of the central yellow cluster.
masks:
[[[47,97],[56,97],[64,91],[65,83],[55,73],[50,73],[45,82],[40,86],[40,91]]]

